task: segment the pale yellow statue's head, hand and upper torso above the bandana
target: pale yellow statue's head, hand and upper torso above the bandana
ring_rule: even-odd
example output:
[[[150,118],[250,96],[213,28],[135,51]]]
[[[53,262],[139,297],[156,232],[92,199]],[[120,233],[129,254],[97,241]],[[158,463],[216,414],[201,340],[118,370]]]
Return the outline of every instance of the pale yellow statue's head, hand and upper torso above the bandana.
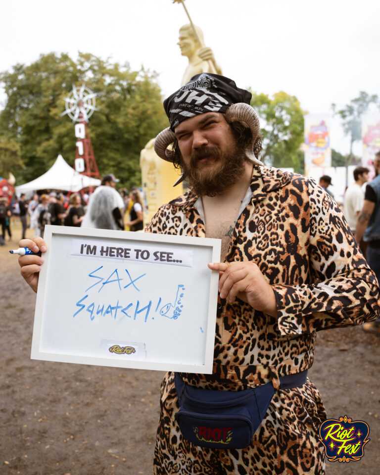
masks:
[[[212,49],[204,47],[202,30],[195,25],[194,28],[196,36],[190,24],[180,29],[178,45],[181,48],[181,54],[189,58],[188,67],[182,78],[182,86],[188,83],[195,74],[222,74],[222,69],[216,63]]]

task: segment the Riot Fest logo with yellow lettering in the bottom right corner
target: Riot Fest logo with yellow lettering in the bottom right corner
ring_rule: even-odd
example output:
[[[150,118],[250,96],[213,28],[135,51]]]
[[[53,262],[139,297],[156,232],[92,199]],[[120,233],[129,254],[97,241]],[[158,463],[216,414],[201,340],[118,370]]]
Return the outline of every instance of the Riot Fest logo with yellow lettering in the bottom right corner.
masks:
[[[319,428],[319,440],[325,446],[330,462],[350,462],[360,460],[364,446],[370,441],[370,427],[364,421],[352,421],[347,416],[339,420],[328,419]]]

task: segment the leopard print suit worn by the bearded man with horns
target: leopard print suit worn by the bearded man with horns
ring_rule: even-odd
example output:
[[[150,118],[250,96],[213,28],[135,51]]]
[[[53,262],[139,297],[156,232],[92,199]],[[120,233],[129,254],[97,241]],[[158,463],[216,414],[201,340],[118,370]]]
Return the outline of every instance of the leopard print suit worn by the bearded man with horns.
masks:
[[[318,389],[279,389],[279,377],[311,367],[316,332],[360,325],[379,315],[379,285],[341,210],[309,178],[254,168],[251,196],[235,225],[226,261],[255,262],[273,286],[276,318],[236,299],[218,301],[212,375],[181,374],[190,385],[241,390],[272,381],[277,389],[245,449],[191,444],[175,420],[174,373],[161,386],[154,473],[324,474],[318,429],[326,420]],[[193,192],[162,206],[146,232],[205,237]]]

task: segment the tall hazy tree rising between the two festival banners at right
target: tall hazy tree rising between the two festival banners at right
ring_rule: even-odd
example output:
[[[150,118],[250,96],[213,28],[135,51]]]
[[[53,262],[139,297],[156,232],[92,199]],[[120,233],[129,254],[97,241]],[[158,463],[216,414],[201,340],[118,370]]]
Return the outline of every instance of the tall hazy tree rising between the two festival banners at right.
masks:
[[[376,94],[369,95],[364,91],[360,91],[359,96],[352,99],[342,109],[336,110],[336,104],[332,104],[332,110],[342,119],[342,126],[345,135],[350,137],[350,153],[346,155],[346,163],[348,166],[354,160],[352,147],[354,142],[362,138],[362,116],[371,103],[376,104],[378,96]]]

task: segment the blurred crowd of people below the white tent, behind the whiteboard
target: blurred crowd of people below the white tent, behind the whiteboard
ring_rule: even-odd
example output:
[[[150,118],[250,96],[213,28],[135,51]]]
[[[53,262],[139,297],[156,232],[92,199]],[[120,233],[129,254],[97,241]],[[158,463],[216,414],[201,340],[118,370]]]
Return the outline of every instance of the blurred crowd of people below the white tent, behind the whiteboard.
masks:
[[[27,200],[24,193],[16,196],[8,205],[7,198],[0,197],[0,244],[12,238],[12,219],[21,223],[21,238],[32,229],[33,236],[44,237],[47,224],[97,229],[141,231],[143,229],[143,202],[137,187],[131,192],[117,191],[119,182],[114,175],[105,175],[101,185],[93,193],[68,193],[50,191],[35,193]],[[14,222],[13,224],[16,224]]]

